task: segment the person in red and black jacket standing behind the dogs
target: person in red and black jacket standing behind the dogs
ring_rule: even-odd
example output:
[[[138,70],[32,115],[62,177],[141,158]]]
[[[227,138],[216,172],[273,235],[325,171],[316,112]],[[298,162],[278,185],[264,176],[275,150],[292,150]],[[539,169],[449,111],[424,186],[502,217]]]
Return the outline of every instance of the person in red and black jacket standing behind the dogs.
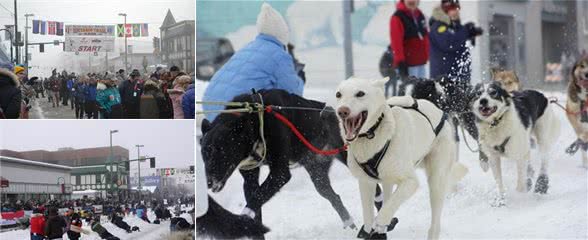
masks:
[[[418,9],[419,0],[400,0],[390,18],[390,46],[393,67],[402,79],[426,78],[429,60],[429,33],[425,15]]]

